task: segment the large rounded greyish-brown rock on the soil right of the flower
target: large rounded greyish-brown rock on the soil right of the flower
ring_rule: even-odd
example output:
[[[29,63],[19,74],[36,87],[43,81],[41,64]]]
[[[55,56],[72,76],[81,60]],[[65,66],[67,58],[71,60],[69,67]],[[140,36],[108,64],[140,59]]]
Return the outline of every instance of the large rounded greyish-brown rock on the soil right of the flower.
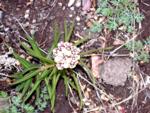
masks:
[[[129,58],[112,58],[100,66],[100,77],[106,84],[123,86],[132,65]]]

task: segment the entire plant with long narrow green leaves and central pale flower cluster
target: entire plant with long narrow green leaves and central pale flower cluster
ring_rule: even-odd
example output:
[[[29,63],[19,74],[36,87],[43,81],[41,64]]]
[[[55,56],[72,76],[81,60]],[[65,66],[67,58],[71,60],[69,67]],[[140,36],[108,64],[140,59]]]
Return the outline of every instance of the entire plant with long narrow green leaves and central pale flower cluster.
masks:
[[[26,102],[35,93],[37,100],[36,104],[38,104],[41,101],[40,87],[44,84],[48,91],[51,110],[54,112],[57,84],[60,79],[63,79],[66,89],[66,96],[68,95],[69,87],[77,91],[80,99],[80,108],[82,108],[82,93],[77,78],[77,72],[74,68],[76,68],[77,65],[83,68],[93,83],[94,78],[90,72],[90,69],[88,69],[88,67],[84,64],[85,53],[82,54],[82,52],[80,52],[77,44],[69,42],[73,28],[74,24],[72,24],[68,30],[65,23],[64,40],[63,42],[59,42],[60,31],[58,30],[58,26],[55,27],[54,40],[49,48],[48,54],[41,51],[33,37],[27,37],[28,45],[24,43],[21,43],[21,45],[29,55],[35,59],[38,59],[38,62],[36,63],[29,62],[26,59],[21,58],[17,53],[14,53],[15,58],[21,63],[23,69],[21,72],[18,72],[13,76],[14,83],[11,85],[17,86],[16,89],[21,92],[21,99],[23,102]],[[78,44],[80,43],[78,42]],[[88,54],[89,53],[90,52],[88,52]],[[47,99],[44,101],[46,102],[46,100]],[[45,106],[46,103],[43,103],[38,107],[40,110],[43,110]]]

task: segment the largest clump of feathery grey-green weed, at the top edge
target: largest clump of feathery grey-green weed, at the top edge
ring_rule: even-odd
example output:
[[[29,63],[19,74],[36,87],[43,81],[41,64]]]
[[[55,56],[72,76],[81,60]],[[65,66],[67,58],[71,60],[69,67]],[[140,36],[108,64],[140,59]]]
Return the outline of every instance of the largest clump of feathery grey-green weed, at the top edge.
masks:
[[[91,31],[101,32],[102,29],[118,30],[131,33],[135,23],[140,23],[144,16],[137,11],[137,6],[131,0],[98,0],[97,15],[103,22],[96,21]]]

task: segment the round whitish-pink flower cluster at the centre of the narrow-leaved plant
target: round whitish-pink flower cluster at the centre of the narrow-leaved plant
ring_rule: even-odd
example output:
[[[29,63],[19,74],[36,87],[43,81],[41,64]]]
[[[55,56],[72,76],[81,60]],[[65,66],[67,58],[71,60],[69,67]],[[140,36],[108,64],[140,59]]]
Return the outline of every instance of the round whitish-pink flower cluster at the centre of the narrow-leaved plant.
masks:
[[[59,70],[75,68],[80,59],[80,49],[69,42],[60,42],[53,50],[53,58]]]

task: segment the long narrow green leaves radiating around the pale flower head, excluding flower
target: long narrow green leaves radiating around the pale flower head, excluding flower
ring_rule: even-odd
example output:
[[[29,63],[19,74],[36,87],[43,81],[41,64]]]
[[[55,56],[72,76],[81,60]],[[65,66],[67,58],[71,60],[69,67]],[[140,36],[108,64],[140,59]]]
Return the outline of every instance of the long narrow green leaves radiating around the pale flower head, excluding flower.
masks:
[[[66,23],[64,24],[64,42],[70,41],[73,29],[74,24],[71,24],[69,29]],[[22,71],[13,76],[14,82],[11,84],[13,86],[17,86],[16,89],[17,91],[21,92],[21,98],[23,102],[26,102],[34,94],[36,94],[36,99],[38,100],[41,93],[41,85],[44,84],[48,90],[51,110],[54,112],[57,84],[60,79],[63,79],[66,96],[68,95],[69,87],[77,91],[80,99],[80,107],[82,108],[82,92],[77,78],[78,73],[74,68],[62,70],[57,69],[53,58],[53,50],[54,48],[57,48],[57,44],[59,43],[60,39],[60,31],[58,30],[58,26],[55,26],[53,43],[49,48],[48,54],[42,52],[34,38],[28,36],[27,39],[28,45],[24,43],[21,43],[21,45],[26,52],[35,59],[36,63],[29,62],[20,57],[17,53],[14,53],[15,58],[22,65]],[[85,39],[82,41],[77,41],[75,45],[78,46],[84,41]],[[80,57],[91,52],[93,51],[81,53]],[[92,80],[92,82],[94,82],[94,78],[90,72],[90,69],[86,66],[86,64],[83,63],[83,58],[80,58],[77,65],[83,68],[88,77]]]

